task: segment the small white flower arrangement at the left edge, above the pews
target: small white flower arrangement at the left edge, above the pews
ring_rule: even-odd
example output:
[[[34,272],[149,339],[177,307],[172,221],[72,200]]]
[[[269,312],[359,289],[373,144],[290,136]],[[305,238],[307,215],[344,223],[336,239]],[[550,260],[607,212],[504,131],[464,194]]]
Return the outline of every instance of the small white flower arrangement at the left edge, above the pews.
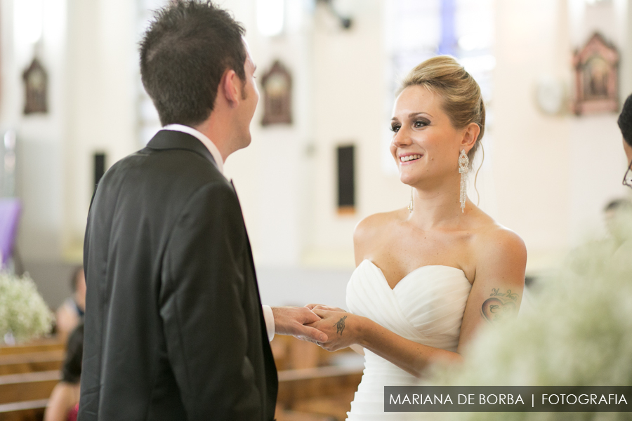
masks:
[[[0,343],[21,342],[51,331],[53,314],[33,280],[0,272]]]

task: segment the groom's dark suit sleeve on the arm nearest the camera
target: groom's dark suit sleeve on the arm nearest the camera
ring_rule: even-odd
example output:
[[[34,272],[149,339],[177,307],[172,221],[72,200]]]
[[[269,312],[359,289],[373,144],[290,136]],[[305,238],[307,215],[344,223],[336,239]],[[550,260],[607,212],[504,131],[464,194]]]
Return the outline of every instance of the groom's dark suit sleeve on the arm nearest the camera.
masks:
[[[165,250],[160,312],[190,420],[263,418],[246,356],[245,247],[237,196],[216,182],[188,201]]]

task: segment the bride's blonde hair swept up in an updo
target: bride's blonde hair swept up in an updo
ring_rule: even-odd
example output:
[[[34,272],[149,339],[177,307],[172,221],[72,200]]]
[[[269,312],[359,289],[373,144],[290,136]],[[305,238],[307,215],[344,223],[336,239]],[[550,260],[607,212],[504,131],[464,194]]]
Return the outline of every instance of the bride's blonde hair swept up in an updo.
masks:
[[[463,128],[469,123],[478,124],[480,133],[468,152],[471,167],[485,133],[485,104],[478,83],[453,57],[437,55],[412,69],[402,81],[397,94],[409,86],[424,86],[440,95],[443,99],[442,109],[455,128]]]

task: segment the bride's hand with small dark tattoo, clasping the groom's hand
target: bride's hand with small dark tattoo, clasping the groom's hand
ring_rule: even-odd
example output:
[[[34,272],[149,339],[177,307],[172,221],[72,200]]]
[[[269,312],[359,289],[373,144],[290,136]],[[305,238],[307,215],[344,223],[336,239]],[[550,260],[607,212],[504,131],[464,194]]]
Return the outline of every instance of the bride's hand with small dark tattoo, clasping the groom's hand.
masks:
[[[328,338],[326,342],[317,342],[317,345],[333,352],[357,343],[362,317],[344,310],[331,311],[314,308],[312,311],[320,316],[321,320],[310,323],[308,326],[320,330]]]

